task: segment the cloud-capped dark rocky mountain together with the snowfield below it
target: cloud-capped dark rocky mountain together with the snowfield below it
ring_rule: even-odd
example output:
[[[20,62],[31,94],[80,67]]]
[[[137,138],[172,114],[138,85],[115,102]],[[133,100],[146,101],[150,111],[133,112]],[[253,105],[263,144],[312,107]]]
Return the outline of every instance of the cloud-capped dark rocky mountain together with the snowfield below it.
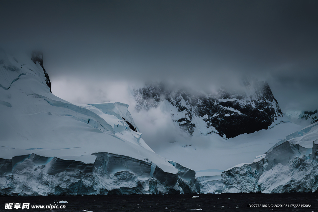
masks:
[[[143,119],[153,114],[162,116],[160,123],[172,130],[163,128],[169,137],[160,137],[166,131],[154,133],[159,139],[153,138],[148,144],[155,152],[195,170],[197,180],[221,180],[227,168],[253,160],[256,154],[263,154],[287,134],[301,129],[283,116],[266,82],[245,81],[243,88],[245,93],[220,89],[214,95],[168,89],[162,83],[136,88],[132,92],[135,110],[139,111],[134,113],[136,122],[140,123],[138,114]],[[176,129],[162,119],[170,119]],[[203,192],[210,190],[201,188]],[[219,191],[220,184],[212,190]]]

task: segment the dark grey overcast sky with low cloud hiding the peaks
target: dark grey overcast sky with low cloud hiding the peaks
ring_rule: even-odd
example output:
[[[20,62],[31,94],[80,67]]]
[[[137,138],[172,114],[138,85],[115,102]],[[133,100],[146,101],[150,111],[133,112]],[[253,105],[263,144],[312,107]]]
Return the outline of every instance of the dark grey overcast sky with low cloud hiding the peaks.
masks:
[[[53,94],[70,102],[248,75],[284,111],[318,108],[318,1],[1,1],[0,11],[0,46],[42,50]]]

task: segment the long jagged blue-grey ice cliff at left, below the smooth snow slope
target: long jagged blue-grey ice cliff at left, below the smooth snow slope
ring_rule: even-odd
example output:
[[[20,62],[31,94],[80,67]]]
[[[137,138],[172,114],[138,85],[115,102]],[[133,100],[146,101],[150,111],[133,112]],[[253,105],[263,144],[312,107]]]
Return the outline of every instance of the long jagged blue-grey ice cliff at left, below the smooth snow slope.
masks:
[[[0,159],[1,195],[192,194],[193,170],[162,171],[151,161],[106,152],[94,153],[93,164],[47,158],[32,153]],[[187,170],[187,171],[185,171]]]

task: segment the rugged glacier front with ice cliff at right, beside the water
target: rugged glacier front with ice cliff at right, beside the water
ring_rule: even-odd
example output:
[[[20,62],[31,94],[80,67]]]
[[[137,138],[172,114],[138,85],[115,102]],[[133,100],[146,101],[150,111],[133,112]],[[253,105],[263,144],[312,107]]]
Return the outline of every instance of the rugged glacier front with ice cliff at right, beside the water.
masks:
[[[253,163],[223,172],[222,192],[316,192],[317,142],[317,123],[288,135]]]

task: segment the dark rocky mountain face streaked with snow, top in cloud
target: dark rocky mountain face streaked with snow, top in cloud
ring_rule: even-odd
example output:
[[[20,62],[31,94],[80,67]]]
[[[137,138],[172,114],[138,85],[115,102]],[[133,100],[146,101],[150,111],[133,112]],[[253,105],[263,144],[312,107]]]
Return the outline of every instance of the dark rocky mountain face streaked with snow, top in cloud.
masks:
[[[245,92],[219,89],[216,95],[184,89],[169,90],[163,83],[134,89],[137,111],[160,107],[190,136],[217,133],[233,138],[243,133],[268,129],[280,123],[283,112],[263,81],[244,81]]]

